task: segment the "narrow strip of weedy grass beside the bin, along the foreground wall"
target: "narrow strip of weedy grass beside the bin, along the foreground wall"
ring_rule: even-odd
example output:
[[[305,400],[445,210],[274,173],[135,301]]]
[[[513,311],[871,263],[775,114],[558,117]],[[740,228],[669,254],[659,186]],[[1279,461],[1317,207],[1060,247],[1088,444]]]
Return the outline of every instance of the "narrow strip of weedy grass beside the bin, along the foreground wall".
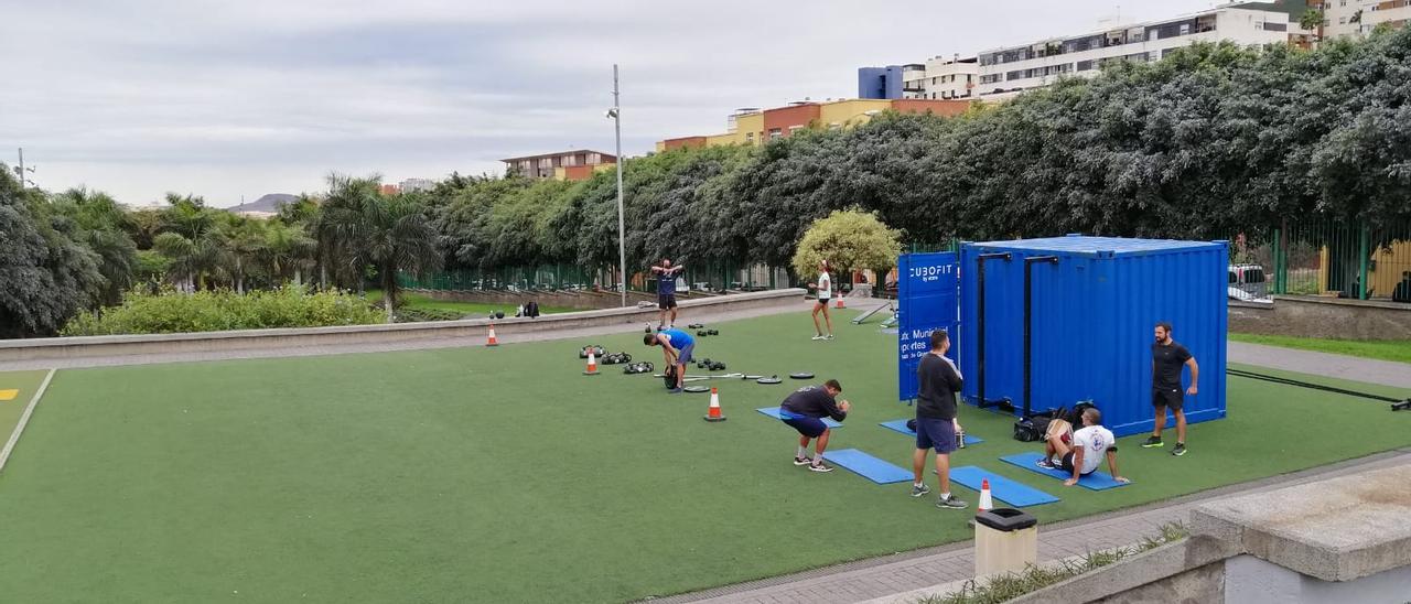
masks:
[[[1123,559],[1153,550],[1167,543],[1185,539],[1188,532],[1181,524],[1161,526],[1161,532],[1149,536],[1134,546],[1089,552],[1078,560],[1058,560],[1057,564],[1027,566],[1023,572],[993,577],[985,584],[967,581],[959,591],[947,596],[921,598],[917,604],[999,604],[1044,587],[1067,581],[1084,573],[1112,566]]]

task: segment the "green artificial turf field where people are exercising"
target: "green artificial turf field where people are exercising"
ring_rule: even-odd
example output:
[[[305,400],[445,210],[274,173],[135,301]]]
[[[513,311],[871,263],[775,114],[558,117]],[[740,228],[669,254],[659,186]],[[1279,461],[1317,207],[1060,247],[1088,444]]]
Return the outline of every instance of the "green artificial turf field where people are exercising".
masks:
[[[893,336],[837,313],[713,325],[698,357],[728,371],[837,377],[854,413],[831,447],[909,467]],[[690,322],[689,316],[683,318]],[[794,432],[753,409],[800,382],[581,375],[601,343],[660,367],[641,333],[385,354],[59,371],[0,473],[8,601],[621,601],[967,539],[968,511],[844,469],[794,467]],[[1394,394],[1387,388],[1370,391]],[[1012,418],[965,409],[985,443],[957,453],[1091,515],[1411,445],[1411,413],[1230,378],[1229,419],[1191,453],[1122,439],[1110,491],[998,460],[1034,447]],[[934,485],[934,480],[931,481]],[[974,504],[976,494],[957,493]]]

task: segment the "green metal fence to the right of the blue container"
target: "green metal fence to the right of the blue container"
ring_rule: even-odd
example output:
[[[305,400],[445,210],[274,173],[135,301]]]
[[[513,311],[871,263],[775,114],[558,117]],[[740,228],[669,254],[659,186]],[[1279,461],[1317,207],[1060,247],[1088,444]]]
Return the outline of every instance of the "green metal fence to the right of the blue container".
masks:
[[[1284,222],[1230,237],[1235,267],[1260,267],[1270,294],[1411,302],[1411,222]]]

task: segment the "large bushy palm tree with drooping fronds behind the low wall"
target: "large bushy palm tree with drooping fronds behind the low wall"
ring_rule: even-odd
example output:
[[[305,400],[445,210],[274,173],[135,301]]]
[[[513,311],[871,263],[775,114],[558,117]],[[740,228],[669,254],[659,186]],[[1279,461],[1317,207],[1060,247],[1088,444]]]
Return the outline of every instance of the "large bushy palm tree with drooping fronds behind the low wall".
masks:
[[[388,322],[392,322],[396,308],[398,271],[426,272],[442,265],[436,229],[428,219],[420,198],[399,193],[384,196],[378,192],[377,176],[329,176],[319,240],[347,268],[377,268]]]

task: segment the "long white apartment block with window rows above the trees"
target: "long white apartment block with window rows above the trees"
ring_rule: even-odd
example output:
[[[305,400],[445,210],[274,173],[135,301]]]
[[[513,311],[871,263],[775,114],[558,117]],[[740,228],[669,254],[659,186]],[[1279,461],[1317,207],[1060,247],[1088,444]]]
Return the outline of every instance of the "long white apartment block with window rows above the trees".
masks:
[[[1407,0],[1393,0],[1393,4],[1397,1]],[[995,48],[974,58],[935,58],[926,64],[924,73],[906,79],[899,93],[896,89],[886,92],[897,93],[895,99],[999,100],[1051,85],[1060,76],[1096,75],[1113,61],[1158,61],[1194,42],[1288,44],[1311,34],[1297,23],[1304,10],[1302,1],[1291,0],[1236,3],[1184,17]],[[869,82],[869,69],[876,68],[858,71],[859,90]]]

